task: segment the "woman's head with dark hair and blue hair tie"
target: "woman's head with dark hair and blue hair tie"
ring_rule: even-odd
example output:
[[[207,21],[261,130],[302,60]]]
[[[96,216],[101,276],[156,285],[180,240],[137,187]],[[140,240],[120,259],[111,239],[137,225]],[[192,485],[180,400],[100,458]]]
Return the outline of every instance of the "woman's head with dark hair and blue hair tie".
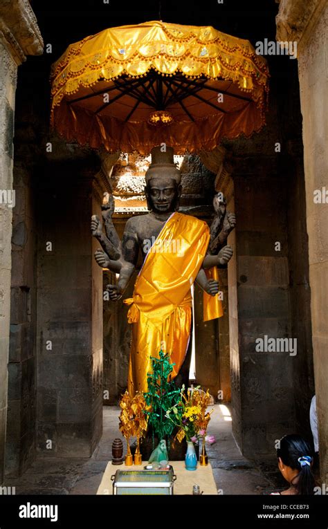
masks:
[[[284,436],[277,449],[278,467],[297,494],[313,494],[314,477],[311,471],[312,449],[301,436]]]

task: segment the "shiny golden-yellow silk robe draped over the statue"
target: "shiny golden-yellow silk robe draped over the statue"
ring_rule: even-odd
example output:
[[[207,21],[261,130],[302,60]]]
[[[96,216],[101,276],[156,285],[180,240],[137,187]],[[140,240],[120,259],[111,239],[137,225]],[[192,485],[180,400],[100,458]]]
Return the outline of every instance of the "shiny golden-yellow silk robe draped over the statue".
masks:
[[[206,256],[210,230],[204,221],[174,213],[166,221],[150,248],[140,270],[127,313],[132,327],[127,389],[147,391],[150,357],[160,350],[170,353],[174,378],[183,364],[188,348],[192,298],[190,286]],[[217,269],[208,277],[217,279]],[[204,293],[204,320],[222,315],[217,296]]]

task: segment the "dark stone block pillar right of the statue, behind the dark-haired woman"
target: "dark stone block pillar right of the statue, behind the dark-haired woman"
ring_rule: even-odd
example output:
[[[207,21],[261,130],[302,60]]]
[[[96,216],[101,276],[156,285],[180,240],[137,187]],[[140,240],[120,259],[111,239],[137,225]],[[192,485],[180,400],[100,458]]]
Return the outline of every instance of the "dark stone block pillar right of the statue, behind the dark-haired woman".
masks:
[[[286,193],[280,178],[265,170],[255,176],[236,171],[233,181],[237,225],[228,238],[235,249],[228,263],[233,431],[242,453],[254,457],[273,454],[275,439],[294,426],[293,358],[255,349],[265,335],[291,336]],[[275,241],[282,243],[281,252],[275,252]]]

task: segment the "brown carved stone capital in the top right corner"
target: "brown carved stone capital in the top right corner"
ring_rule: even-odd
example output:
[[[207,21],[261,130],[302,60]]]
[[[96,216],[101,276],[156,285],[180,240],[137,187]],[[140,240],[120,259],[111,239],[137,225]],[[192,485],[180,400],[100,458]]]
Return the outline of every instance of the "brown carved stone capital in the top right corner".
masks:
[[[281,0],[275,17],[277,41],[296,41],[299,49],[306,44],[327,0]]]

